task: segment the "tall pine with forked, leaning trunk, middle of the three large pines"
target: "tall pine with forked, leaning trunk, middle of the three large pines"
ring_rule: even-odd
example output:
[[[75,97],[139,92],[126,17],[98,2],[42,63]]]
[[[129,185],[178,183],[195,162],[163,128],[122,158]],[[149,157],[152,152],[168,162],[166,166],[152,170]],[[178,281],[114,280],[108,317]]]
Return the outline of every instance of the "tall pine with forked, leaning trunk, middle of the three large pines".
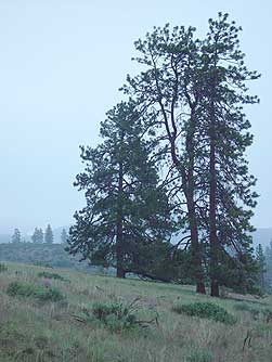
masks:
[[[170,31],[166,25],[155,27],[145,40],[138,40],[135,49],[141,56],[135,61],[147,70],[134,78],[128,76],[122,90],[137,98],[148,114],[146,127],[157,140],[157,153],[165,156],[167,182],[172,184],[170,195],[177,196],[180,205],[185,204],[178,208],[182,233],[186,231],[189,235],[184,238],[191,240],[196,292],[205,294],[195,176],[196,111],[200,98],[192,87],[199,62],[194,30],[181,26]]]

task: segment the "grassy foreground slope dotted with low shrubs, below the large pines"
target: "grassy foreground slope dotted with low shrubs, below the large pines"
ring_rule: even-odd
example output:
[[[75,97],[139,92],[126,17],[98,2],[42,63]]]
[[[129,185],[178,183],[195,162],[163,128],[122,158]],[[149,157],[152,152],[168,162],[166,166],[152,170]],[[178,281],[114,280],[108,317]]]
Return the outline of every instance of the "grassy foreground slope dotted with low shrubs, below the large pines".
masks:
[[[211,299],[190,286],[7,266],[0,272],[1,362],[271,361],[271,299]],[[182,305],[207,301],[211,309],[200,306],[208,306],[208,318],[183,314]],[[213,305],[225,312],[210,314]]]

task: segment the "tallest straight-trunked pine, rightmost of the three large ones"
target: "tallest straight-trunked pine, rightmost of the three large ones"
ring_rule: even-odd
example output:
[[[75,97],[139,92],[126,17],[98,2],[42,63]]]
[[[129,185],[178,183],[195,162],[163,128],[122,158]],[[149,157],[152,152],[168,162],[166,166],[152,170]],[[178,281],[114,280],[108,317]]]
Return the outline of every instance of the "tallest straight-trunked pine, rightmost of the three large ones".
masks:
[[[256,179],[248,173],[245,159],[252,135],[248,132],[250,124],[243,113],[243,104],[258,102],[256,96],[247,94],[246,81],[259,75],[244,64],[239,30],[234,22],[228,23],[228,14],[219,13],[218,20],[209,20],[209,31],[200,48],[205,87],[202,87],[198,145],[204,150],[202,188],[208,190],[205,212],[208,214],[212,296],[219,296],[219,284],[223,282],[220,280],[222,254],[232,248],[229,257],[235,259],[236,255],[241,261],[241,254],[250,254],[254,231],[250,217],[257,194],[251,186]]]

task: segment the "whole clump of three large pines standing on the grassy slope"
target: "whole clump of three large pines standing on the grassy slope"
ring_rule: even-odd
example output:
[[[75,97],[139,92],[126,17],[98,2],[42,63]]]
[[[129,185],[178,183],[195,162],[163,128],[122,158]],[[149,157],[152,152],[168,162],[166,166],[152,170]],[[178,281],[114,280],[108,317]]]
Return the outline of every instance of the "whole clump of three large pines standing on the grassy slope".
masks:
[[[245,65],[239,31],[219,13],[203,39],[166,25],[135,42],[142,72],[127,76],[127,101],[101,122],[101,144],[81,146],[75,186],[87,203],[69,231],[72,255],[211,296],[220,285],[260,286],[243,111],[259,102],[247,89],[259,74]]]

